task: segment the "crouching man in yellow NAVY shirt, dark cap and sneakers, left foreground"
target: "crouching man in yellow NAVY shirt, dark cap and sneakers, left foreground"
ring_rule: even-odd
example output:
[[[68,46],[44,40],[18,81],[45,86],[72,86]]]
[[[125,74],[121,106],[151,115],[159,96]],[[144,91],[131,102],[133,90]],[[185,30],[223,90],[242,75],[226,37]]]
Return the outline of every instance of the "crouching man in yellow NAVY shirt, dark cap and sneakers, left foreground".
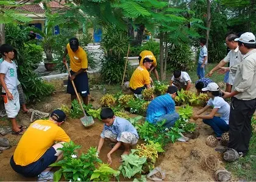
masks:
[[[50,171],[49,165],[63,157],[62,150],[58,149],[70,141],[69,136],[59,127],[65,118],[65,113],[57,109],[51,113],[49,120],[37,120],[30,124],[10,159],[15,172],[24,177],[38,175],[38,181],[53,181],[54,173]],[[55,141],[60,143],[54,144]]]

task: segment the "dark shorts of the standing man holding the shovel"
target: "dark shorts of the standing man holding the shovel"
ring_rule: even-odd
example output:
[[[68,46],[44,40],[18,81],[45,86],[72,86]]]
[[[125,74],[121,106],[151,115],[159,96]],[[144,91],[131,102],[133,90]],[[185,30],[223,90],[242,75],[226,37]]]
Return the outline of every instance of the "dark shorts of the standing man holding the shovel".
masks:
[[[71,75],[73,75],[75,72],[70,70],[70,73]],[[80,96],[87,96],[90,94],[87,72],[80,73],[79,75],[76,76],[75,79],[73,79],[73,81],[76,86],[77,92],[80,93]],[[76,92],[74,92],[74,87],[70,79],[68,79],[68,86],[66,89],[66,93],[69,93],[71,95],[76,95]]]

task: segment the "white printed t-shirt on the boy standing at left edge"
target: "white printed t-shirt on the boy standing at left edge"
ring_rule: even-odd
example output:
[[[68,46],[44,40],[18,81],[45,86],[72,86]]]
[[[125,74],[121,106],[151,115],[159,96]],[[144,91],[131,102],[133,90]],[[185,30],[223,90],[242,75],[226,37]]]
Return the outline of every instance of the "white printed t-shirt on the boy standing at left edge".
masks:
[[[3,61],[0,66],[0,73],[4,73],[4,82],[7,86],[7,89],[17,89],[18,86],[18,78],[17,78],[17,69],[16,64],[12,61],[12,63]],[[2,88],[2,92],[5,93],[4,88]]]

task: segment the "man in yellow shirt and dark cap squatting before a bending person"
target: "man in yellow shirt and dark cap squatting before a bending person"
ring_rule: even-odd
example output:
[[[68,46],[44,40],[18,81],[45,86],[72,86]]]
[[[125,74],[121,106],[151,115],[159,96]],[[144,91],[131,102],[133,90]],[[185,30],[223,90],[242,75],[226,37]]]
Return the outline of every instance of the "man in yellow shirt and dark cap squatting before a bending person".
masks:
[[[148,57],[143,58],[141,66],[138,66],[137,69],[133,72],[132,77],[130,78],[129,87],[133,93],[140,95],[142,90],[151,88],[152,79],[149,76],[147,69],[150,69],[153,60]]]

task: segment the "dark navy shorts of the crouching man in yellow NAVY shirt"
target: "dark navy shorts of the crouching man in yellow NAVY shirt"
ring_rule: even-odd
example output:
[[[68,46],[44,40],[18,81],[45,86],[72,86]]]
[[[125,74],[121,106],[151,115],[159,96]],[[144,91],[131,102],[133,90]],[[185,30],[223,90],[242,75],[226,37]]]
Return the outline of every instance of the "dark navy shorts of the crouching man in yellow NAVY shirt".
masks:
[[[37,177],[44,169],[46,169],[50,164],[54,163],[57,160],[55,156],[56,150],[54,147],[49,148],[46,152],[34,163],[31,163],[27,166],[16,165],[13,160],[13,156],[10,159],[10,165],[12,169],[15,170],[18,174],[24,175],[24,177]]]

